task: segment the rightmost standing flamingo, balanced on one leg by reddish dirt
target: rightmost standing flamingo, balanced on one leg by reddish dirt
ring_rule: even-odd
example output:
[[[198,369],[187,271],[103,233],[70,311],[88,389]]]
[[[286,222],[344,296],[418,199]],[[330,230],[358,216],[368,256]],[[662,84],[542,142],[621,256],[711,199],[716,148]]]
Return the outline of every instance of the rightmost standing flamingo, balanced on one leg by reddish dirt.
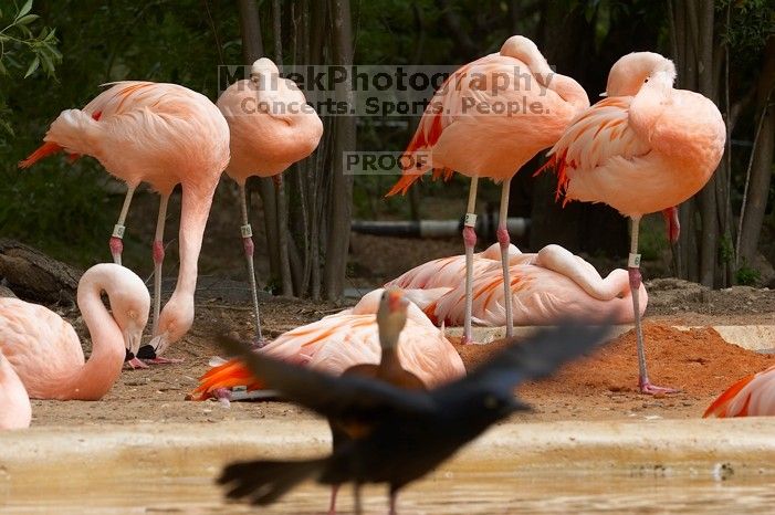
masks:
[[[565,201],[605,202],[632,220],[628,271],[633,291],[641,282],[641,217],[670,210],[697,193],[724,151],[719,108],[698,93],[673,90],[674,78],[672,61],[659,54],[625,55],[608,75],[608,98],[576,118],[548,153]],[[678,228],[670,232],[677,235]],[[632,295],[640,391],[675,391],[649,380],[638,302],[639,295]]]

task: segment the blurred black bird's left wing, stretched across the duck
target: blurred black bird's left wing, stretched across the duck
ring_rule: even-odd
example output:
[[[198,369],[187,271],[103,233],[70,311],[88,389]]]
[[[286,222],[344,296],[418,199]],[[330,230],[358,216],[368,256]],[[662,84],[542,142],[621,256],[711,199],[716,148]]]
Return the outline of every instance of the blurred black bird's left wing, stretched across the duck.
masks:
[[[252,351],[226,335],[218,345],[239,357],[266,387],[328,418],[374,423],[396,412],[430,413],[434,403],[425,391],[408,391],[358,376],[332,376]]]

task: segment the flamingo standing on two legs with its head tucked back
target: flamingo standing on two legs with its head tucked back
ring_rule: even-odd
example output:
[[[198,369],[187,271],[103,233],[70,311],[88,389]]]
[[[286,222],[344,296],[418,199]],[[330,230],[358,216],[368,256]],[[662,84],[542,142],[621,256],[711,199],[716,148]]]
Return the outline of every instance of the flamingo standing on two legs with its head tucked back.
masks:
[[[580,85],[555,74],[536,45],[521,35],[501,51],[454,72],[436,93],[406,154],[430,156],[429,165],[405,170],[387,193],[406,193],[429,169],[471,177],[463,241],[467,255],[467,303],[463,341],[471,341],[472,260],[476,243],[476,186],[480,177],[502,182],[498,241],[504,288],[510,283],[506,230],[509,188],[516,171],[541,149],[554,145],[570,120],[589,107]],[[506,112],[504,112],[506,109]],[[506,336],[512,336],[511,297],[505,294]]]

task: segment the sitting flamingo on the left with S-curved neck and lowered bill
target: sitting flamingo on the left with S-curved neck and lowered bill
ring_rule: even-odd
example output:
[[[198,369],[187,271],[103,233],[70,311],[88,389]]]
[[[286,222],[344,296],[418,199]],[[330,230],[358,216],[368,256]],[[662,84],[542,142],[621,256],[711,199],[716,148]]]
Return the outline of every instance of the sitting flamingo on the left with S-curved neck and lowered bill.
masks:
[[[102,302],[103,292],[113,314]],[[92,266],[78,282],[77,302],[92,337],[88,361],[73,326],[56,313],[0,298],[0,353],[33,399],[101,399],[122,371],[125,348],[140,345],[150,296],[132,271],[114,263]]]

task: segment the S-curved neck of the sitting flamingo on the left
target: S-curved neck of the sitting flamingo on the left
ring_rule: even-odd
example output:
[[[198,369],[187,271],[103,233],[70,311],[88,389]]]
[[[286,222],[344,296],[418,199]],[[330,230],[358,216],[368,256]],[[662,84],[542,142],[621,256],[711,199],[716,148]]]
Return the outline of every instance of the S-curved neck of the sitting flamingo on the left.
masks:
[[[122,371],[126,355],[124,337],[101,298],[103,291],[111,296],[109,285],[109,277],[84,277],[78,285],[78,308],[92,337],[92,355],[63,381],[63,398],[101,399]]]

